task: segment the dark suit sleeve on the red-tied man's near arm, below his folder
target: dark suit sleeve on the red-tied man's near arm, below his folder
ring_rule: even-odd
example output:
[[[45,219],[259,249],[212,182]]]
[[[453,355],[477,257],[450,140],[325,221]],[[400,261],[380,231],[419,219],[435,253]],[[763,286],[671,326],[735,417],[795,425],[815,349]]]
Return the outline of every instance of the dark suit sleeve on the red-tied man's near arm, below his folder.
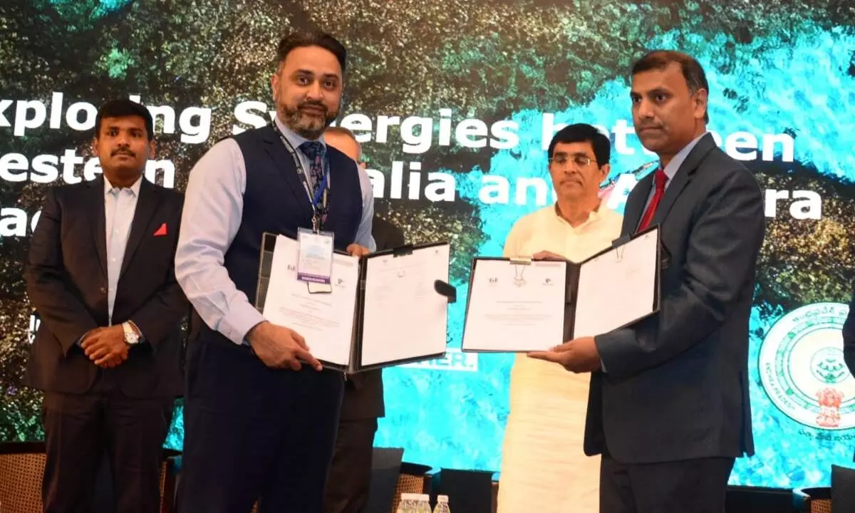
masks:
[[[696,211],[678,289],[659,315],[595,337],[605,372],[623,379],[669,361],[720,329],[752,280],[766,221],[760,186],[736,170]]]

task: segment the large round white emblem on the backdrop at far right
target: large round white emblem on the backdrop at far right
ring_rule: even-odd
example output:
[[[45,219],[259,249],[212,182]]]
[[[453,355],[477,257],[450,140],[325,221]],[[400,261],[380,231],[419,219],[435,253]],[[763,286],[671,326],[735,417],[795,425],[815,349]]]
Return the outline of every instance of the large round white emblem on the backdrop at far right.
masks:
[[[855,378],[843,360],[840,330],[849,307],[803,306],[784,315],[760,347],[758,369],[769,399],[796,422],[855,428]]]

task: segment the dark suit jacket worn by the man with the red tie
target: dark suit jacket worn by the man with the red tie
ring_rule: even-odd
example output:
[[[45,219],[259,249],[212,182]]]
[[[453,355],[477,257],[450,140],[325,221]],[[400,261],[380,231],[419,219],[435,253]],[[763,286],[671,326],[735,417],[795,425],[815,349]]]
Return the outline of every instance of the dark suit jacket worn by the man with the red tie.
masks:
[[[629,194],[634,233],[653,175]],[[596,337],[585,451],[621,463],[753,454],[748,320],[763,245],[763,194],[752,173],[700,139],[652,224],[670,256],[658,315]]]

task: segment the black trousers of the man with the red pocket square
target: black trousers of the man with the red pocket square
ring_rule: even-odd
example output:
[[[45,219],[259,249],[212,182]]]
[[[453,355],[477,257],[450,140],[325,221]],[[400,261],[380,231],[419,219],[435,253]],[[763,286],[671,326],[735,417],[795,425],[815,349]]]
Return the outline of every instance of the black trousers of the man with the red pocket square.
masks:
[[[113,477],[115,510],[159,511],[163,442],[173,408],[173,398],[125,397],[109,374],[99,374],[85,394],[45,392],[45,513],[91,511],[104,451]]]

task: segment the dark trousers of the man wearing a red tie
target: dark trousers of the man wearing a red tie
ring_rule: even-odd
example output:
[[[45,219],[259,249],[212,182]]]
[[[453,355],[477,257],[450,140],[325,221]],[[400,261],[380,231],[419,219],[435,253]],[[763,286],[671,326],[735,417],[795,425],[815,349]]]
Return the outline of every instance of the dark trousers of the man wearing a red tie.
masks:
[[[734,458],[600,464],[600,513],[723,513]]]

